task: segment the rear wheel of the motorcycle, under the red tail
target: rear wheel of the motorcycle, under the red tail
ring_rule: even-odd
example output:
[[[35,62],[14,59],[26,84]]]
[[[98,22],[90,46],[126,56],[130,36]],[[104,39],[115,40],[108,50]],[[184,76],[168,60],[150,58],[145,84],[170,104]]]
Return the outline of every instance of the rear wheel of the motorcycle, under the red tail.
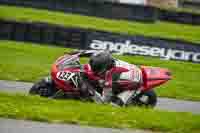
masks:
[[[142,92],[134,99],[134,103],[138,106],[155,107],[157,104],[157,95],[154,90]]]

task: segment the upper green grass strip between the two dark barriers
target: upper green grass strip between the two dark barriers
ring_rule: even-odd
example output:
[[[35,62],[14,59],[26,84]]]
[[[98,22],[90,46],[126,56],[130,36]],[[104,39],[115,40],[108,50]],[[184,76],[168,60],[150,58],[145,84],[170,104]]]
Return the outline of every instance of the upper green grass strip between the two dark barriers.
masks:
[[[72,26],[105,30],[130,35],[140,34],[153,37],[182,39],[200,43],[200,26],[166,22],[156,22],[151,24],[123,20],[109,20],[12,6],[0,6],[0,18],[22,22],[45,22],[67,27]]]

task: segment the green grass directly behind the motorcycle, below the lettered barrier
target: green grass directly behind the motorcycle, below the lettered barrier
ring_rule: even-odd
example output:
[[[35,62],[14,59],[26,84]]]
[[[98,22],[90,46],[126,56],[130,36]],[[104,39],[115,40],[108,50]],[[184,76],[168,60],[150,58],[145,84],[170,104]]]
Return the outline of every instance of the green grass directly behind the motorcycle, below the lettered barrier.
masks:
[[[0,41],[0,79],[35,82],[47,76],[55,59],[70,50],[31,43]],[[139,56],[117,56],[117,58],[133,64],[170,69],[173,80],[156,89],[159,96],[200,101],[200,64]],[[82,63],[86,61],[87,59],[84,59]]]

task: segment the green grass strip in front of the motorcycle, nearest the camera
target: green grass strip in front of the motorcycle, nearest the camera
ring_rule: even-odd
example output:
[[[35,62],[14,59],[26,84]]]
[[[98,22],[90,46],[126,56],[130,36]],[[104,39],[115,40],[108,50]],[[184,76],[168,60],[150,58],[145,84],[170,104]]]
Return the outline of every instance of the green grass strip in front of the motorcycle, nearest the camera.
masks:
[[[71,100],[0,93],[0,117],[111,128],[199,133],[200,115],[145,108],[117,108]]]

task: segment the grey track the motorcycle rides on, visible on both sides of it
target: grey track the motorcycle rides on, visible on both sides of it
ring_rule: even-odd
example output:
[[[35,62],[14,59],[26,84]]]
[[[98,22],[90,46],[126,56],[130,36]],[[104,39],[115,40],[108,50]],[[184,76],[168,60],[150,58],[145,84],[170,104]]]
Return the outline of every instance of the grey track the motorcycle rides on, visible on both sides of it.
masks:
[[[32,83],[0,80],[0,91],[27,93]],[[200,102],[159,98],[156,109],[200,114]]]

